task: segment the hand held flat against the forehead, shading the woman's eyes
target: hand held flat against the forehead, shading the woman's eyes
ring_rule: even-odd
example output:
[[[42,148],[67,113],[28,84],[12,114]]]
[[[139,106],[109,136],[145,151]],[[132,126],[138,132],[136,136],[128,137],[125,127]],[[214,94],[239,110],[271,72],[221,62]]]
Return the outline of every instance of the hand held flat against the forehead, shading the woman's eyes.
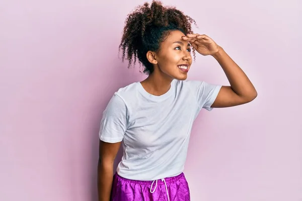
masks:
[[[203,56],[214,55],[220,48],[210,37],[204,34],[187,34],[182,39],[188,41]]]

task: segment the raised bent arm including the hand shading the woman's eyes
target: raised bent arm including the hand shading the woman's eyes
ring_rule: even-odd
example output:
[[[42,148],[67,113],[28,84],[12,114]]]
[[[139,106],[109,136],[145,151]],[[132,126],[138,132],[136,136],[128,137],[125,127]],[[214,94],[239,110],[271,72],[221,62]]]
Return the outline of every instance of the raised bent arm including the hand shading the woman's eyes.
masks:
[[[182,37],[189,41],[201,55],[212,55],[222,67],[231,86],[222,86],[211,108],[225,108],[251,102],[257,97],[257,91],[243,70],[210,37],[199,34],[187,34]]]

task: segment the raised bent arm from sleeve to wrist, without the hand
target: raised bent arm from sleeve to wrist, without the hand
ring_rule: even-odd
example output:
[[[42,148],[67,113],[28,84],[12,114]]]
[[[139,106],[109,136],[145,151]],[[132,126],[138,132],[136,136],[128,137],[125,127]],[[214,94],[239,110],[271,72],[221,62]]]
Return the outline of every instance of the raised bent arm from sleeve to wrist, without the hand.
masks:
[[[238,106],[251,102],[257,97],[257,91],[243,70],[219,47],[212,55],[222,67],[231,86],[222,86],[212,108]]]

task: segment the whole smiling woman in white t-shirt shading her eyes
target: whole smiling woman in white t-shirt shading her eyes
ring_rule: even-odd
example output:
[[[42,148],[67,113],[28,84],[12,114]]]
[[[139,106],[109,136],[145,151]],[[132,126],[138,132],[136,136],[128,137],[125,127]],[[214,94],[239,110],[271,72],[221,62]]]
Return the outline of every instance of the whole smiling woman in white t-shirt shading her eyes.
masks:
[[[125,23],[120,49],[148,77],[114,93],[103,113],[99,200],[190,200],[183,174],[192,124],[202,108],[251,102],[257,92],[242,69],[210,37],[193,34],[193,19],[160,2],[145,3]],[[230,86],[186,81],[197,51],[220,64]],[[134,59],[134,60],[133,60]],[[123,157],[113,174],[120,145]]]

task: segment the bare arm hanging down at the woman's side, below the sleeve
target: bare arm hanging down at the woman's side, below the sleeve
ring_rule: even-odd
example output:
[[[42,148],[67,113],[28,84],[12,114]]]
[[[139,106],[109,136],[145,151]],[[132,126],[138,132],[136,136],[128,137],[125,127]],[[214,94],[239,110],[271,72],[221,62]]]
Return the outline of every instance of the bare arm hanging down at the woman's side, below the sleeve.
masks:
[[[98,200],[109,201],[113,180],[113,164],[121,142],[107,143],[100,140],[98,162]]]

